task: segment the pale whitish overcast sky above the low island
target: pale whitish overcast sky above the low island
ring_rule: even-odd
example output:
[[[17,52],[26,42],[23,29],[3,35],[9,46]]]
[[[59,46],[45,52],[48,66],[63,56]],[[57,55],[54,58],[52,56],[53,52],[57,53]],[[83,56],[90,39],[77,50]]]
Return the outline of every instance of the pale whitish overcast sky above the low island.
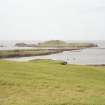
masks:
[[[105,40],[105,0],[0,0],[0,40]]]

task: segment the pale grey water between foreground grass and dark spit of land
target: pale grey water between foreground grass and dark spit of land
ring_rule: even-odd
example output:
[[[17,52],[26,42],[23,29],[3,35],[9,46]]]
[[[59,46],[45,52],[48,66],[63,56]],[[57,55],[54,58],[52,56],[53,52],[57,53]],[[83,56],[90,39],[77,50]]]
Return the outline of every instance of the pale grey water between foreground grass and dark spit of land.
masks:
[[[65,51],[63,53],[46,56],[8,58],[6,60],[24,62],[33,59],[52,59],[67,61],[69,64],[105,64],[105,41],[96,43],[98,43],[99,45],[98,48],[87,48],[77,51]]]

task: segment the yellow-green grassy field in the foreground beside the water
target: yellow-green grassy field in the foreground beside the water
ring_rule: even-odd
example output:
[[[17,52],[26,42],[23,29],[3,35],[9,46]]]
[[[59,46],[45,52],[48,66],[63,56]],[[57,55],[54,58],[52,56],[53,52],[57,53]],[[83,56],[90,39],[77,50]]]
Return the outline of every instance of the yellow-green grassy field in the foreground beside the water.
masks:
[[[0,105],[105,105],[105,68],[0,61]]]

